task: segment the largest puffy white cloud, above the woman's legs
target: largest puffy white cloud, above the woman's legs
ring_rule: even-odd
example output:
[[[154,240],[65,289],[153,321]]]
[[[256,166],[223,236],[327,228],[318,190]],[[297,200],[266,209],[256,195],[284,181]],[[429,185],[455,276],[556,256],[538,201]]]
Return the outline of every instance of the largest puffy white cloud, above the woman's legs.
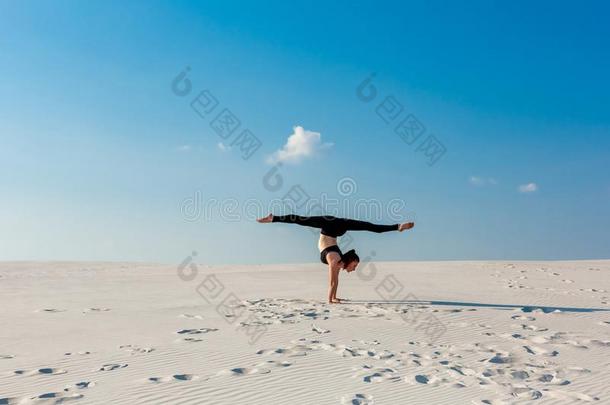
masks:
[[[320,151],[333,146],[332,143],[322,143],[319,132],[307,131],[301,126],[293,129],[294,132],[288,137],[282,149],[269,156],[268,163],[300,163],[304,158],[316,156]]]

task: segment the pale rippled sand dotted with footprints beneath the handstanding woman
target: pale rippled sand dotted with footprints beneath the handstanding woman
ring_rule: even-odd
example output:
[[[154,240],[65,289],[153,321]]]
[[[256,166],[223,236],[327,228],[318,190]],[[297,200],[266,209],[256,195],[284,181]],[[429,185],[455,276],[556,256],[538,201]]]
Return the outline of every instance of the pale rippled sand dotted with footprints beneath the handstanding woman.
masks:
[[[326,281],[1,263],[0,404],[610,403],[610,261],[377,263],[341,305]]]

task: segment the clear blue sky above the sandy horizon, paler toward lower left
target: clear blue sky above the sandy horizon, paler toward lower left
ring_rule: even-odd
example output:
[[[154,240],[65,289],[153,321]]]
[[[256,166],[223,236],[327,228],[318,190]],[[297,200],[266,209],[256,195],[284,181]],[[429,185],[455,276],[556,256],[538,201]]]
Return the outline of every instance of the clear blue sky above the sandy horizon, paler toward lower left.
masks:
[[[217,212],[189,221],[181,208],[199,192],[200,209],[231,199],[243,214],[296,184],[338,198],[346,177],[357,185],[347,204],[400,199],[417,223],[354,235],[361,255],[610,257],[603,2],[2,8],[0,260],[177,263],[195,250],[210,264],[315,261],[305,229]],[[192,90],[178,97],[172,81],[187,66]],[[378,95],[364,103],[356,88],[373,72]],[[190,107],[206,89],[214,114],[229,108],[260,140],[249,159]],[[433,166],[376,114],[388,96],[446,148]],[[295,126],[332,146],[285,162],[270,191],[267,160]]]

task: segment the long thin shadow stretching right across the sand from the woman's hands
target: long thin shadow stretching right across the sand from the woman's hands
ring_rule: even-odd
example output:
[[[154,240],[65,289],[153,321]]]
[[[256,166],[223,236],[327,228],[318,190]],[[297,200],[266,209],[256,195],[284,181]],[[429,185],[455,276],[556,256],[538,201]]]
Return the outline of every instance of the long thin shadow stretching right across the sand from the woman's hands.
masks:
[[[518,304],[485,304],[481,302],[459,302],[459,301],[421,301],[421,300],[344,300],[346,304],[381,304],[381,305],[444,305],[451,307],[475,307],[495,309],[520,309],[522,312],[541,310],[548,314],[550,312],[604,312],[610,308],[577,308],[577,307],[547,307],[541,305],[518,305]]]

